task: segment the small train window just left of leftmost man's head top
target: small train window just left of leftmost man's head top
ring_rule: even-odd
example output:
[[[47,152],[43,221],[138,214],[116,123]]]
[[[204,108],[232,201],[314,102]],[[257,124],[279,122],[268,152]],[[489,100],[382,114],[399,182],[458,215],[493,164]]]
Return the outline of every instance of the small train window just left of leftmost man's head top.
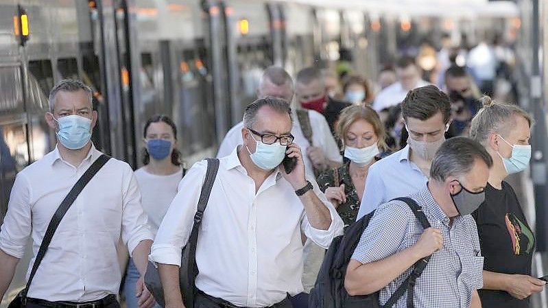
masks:
[[[53,71],[50,60],[29,61],[29,102],[32,106],[48,110],[47,97],[53,88]]]

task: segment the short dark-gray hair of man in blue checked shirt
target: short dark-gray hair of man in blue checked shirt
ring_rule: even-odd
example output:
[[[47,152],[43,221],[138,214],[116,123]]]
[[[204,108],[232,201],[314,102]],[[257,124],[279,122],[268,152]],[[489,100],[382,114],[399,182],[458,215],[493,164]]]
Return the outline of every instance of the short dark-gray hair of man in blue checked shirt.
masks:
[[[489,168],[493,165],[491,156],[479,142],[466,137],[447,139],[434,156],[430,178],[444,182],[449,176],[467,174],[474,167],[476,158]]]

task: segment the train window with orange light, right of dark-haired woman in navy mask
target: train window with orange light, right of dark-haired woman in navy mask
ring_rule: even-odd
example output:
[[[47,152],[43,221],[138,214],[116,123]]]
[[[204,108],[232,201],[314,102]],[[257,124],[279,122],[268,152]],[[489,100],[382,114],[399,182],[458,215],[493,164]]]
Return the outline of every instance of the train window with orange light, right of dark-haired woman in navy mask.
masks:
[[[183,156],[211,147],[215,141],[213,106],[209,104],[211,83],[201,56],[200,51],[195,53],[193,49],[187,49],[182,51],[179,63],[181,102],[174,116],[180,127]]]

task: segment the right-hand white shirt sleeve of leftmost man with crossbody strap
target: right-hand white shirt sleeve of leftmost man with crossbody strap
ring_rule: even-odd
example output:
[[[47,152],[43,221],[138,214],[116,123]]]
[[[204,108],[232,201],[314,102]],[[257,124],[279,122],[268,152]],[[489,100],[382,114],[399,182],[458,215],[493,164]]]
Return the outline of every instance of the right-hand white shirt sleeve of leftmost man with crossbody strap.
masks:
[[[141,206],[141,192],[139,185],[129,165],[126,166],[124,178],[128,184],[123,192],[122,204],[122,241],[128,246],[130,256],[133,250],[145,239],[153,239],[150,226],[147,224],[147,215]]]

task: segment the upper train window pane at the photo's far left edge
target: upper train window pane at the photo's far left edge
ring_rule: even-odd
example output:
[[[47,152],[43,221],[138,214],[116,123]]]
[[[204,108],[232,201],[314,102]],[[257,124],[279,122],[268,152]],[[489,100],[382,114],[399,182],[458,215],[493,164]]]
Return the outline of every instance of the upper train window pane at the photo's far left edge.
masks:
[[[0,115],[24,111],[21,68],[0,67]]]

